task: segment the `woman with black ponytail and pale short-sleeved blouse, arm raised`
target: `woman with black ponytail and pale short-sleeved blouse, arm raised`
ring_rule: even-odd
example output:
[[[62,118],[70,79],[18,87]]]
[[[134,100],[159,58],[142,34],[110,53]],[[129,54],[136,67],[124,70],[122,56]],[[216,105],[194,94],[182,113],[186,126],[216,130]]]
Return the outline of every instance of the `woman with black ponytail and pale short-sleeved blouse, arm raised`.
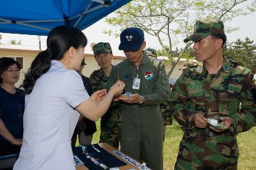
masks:
[[[59,26],[49,33],[47,50],[33,60],[22,84],[26,92],[24,135],[14,170],[75,169],[70,139],[79,113],[99,120],[124,89],[119,81],[108,94],[100,90],[88,96],[76,72],[86,43],[83,32]]]

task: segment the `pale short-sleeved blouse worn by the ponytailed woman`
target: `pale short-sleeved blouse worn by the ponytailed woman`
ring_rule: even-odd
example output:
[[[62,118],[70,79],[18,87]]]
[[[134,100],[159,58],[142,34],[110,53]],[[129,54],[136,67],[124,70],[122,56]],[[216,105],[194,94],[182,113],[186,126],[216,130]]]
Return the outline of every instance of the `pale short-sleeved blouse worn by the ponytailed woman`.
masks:
[[[75,169],[70,144],[79,118],[75,108],[88,97],[81,76],[52,60],[25,98],[22,148],[13,169]]]

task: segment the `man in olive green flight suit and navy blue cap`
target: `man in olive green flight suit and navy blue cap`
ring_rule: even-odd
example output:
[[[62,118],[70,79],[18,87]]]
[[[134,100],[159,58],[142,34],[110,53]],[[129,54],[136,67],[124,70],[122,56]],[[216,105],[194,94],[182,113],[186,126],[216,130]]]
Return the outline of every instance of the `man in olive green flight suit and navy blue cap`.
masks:
[[[170,87],[164,63],[148,57],[144,33],[132,27],[120,34],[119,50],[127,57],[113,67],[108,87],[120,79],[125,83],[126,97],[122,112],[121,151],[133,159],[142,159],[148,167],[163,169],[163,120],[160,104],[168,99]]]

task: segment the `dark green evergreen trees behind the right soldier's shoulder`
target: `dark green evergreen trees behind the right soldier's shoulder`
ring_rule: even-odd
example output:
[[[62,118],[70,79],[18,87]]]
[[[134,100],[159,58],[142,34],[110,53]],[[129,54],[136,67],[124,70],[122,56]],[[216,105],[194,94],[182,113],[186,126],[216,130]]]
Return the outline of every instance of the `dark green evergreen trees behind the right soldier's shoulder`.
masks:
[[[254,73],[256,72],[256,44],[253,44],[249,38],[245,38],[244,41],[237,39],[233,43],[227,43],[223,53],[228,58],[241,62]]]

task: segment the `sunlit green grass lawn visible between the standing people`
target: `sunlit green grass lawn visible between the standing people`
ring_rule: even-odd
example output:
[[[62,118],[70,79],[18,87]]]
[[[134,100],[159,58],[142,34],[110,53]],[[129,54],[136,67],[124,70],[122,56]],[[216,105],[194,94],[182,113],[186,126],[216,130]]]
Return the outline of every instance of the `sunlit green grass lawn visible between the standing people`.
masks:
[[[164,169],[173,169],[177,153],[179,151],[179,143],[182,138],[182,130],[179,124],[174,123],[168,126],[164,140]],[[99,142],[100,121],[97,122],[97,132],[93,135],[93,143]],[[240,133],[237,136],[239,146],[238,169],[255,170],[256,169],[256,127],[250,131]]]

